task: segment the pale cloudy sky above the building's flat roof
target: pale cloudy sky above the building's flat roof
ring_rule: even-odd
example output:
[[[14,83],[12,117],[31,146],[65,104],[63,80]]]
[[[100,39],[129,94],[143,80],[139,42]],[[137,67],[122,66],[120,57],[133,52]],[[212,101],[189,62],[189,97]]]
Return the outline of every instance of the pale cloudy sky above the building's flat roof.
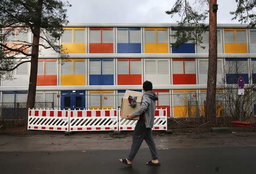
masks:
[[[176,0],[68,0],[69,23],[176,23],[165,11]],[[235,0],[219,0],[217,22],[238,23],[231,20],[230,11],[236,9]]]

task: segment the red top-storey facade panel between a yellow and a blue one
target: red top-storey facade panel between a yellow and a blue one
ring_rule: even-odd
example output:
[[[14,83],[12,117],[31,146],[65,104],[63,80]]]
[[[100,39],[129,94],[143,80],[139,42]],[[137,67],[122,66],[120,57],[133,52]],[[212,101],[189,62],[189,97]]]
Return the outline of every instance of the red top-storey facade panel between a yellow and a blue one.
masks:
[[[90,43],[90,53],[113,53],[113,43]]]

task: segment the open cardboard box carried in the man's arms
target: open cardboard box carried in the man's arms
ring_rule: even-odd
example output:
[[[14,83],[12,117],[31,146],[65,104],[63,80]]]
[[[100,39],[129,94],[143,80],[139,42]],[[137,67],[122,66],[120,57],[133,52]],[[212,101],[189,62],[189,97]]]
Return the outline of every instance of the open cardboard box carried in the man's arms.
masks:
[[[133,90],[126,90],[125,96],[122,98],[122,105],[121,105],[121,118],[127,118],[127,115],[134,113],[137,109],[141,107],[141,100],[142,100],[142,92],[136,92]],[[137,97],[137,105],[133,108],[129,106],[128,98],[129,96]],[[134,119],[139,119],[139,117],[135,117]]]

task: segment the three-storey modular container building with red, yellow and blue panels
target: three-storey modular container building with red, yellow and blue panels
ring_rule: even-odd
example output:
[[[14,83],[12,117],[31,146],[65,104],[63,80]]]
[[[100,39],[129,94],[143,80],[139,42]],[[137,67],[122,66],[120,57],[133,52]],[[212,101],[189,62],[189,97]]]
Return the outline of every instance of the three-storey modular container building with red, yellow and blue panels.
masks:
[[[256,84],[256,29],[241,24],[217,27],[218,88],[236,86],[240,76],[246,85]],[[203,116],[209,33],[203,34],[200,45],[189,41],[175,47],[176,32],[177,24],[159,23],[65,26],[56,44],[63,46],[68,59],[60,60],[52,49],[39,47],[36,107],[115,108],[121,105],[125,90],[141,91],[143,81],[148,80],[159,96],[156,107],[167,108],[168,117]],[[31,32],[24,34],[15,28],[7,44],[18,40],[31,42]],[[44,40],[40,43],[46,44]],[[17,55],[17,63],[30,59],[20,57]],[[26,102],[30,63],[10,73],[13,80],[1,78],[1,102]],[[224,104],[217,105],[221,115]]]

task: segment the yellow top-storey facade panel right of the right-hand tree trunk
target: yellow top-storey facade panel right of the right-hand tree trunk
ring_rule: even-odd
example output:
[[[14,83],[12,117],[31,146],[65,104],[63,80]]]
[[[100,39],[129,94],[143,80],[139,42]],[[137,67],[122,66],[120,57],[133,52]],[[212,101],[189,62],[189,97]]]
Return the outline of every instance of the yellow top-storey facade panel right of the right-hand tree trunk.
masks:
[[[225,53],[247,53],[246,43],[226,43]]]

